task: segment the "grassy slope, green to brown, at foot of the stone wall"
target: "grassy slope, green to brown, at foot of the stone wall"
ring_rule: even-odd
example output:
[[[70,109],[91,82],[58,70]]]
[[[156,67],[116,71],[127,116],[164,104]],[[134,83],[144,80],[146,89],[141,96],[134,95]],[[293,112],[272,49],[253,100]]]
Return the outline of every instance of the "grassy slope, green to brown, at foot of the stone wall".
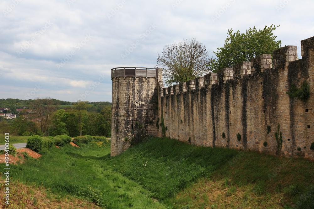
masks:
[[[107,161],[174,208],[290,208],[296,203],[314,208],[314,163],[303,158],[151,139]]]

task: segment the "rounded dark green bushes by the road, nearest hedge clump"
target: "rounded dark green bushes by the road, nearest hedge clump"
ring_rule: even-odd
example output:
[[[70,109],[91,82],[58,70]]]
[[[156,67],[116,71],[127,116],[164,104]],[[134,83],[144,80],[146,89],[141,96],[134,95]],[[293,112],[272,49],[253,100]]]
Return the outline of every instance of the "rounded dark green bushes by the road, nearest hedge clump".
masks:
[[[71,137],[69,136],[48,136],[46,138],[42,138],[38,135],[30,136],[27,138],[26,148],[29,148],[37,153],[41,153],[44,148],[53,147],[55,145],[62,147],[66,144],[70,144]]]

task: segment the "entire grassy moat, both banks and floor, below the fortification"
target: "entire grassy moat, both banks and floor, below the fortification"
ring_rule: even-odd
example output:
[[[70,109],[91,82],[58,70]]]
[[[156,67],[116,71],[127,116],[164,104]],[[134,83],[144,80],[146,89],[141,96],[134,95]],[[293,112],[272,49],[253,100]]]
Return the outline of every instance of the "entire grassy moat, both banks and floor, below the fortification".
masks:
[[[10,168],[8,208],[314,208],[313,161],[169,138],[115,157],[110,140],[53,147]]]

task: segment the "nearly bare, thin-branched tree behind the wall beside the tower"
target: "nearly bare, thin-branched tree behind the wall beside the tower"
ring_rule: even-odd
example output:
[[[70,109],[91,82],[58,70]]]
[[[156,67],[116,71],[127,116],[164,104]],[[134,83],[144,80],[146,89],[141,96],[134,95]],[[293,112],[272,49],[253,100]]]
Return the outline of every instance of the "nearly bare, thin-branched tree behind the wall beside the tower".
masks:
[[[211,72],[208,66],[213,61],[213,57],[209,58],[206,47],[195,39],[168,44],[162,55],[158,53],[157,56],[157,65],[164,67],[166,85],[186,82]]]

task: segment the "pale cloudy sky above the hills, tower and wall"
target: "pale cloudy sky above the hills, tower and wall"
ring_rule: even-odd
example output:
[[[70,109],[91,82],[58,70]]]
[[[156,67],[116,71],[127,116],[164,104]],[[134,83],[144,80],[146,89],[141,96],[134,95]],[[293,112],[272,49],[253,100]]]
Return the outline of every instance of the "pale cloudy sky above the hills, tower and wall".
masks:
[[[154,67],[182,39],[214,56],[228,29],[280,24],[277,40],[301,58],[313,8],[310,0],[1,0],[0,98],[111,102],[111,68]]]

